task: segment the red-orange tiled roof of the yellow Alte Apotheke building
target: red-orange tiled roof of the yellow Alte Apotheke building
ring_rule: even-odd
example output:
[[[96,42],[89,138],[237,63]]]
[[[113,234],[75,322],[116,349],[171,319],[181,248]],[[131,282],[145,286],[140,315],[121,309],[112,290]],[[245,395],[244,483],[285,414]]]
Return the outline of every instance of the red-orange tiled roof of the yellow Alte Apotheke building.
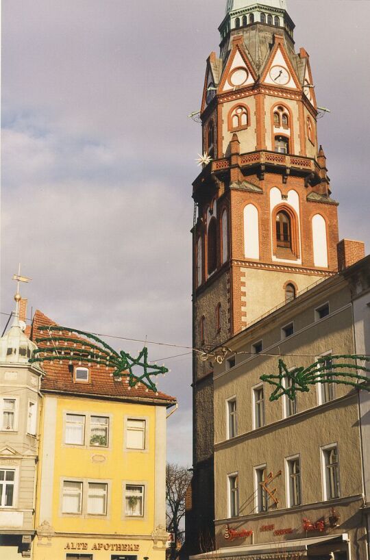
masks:
[[[42,337],[38,327],[49,327],[57,324],[41,311],[36,311],[30,333],[31,340],[36,341],[36,338]],[[69,336],[73,336],[76,340],[77,347],[81,342],[84,342],[84,338],[80,336],[75,334],[69,334]],[[41,346],[45,346],[45,344],[40,344],[39,347]],[[143,385],[140,385],[140,387],[136,385],[136,387],[132,387],[129,390],[127,383],[125,383],[125,378],[123,378],[123,381],[116,381],[110,375],[114,368],[108,368],[107,370],[105,366],[98,368],[97,364],[91,364],[88,368],[90,383],[75,383],[73,381],[73,366],[69,366],[68,361],[64,361],[62,364],[56,360],[53,363],[45,361],[42,364],[42,368],[45,371],[45,376],[42,379],[41,390],[61,392],[63,394],[84,394],[86,396],[118,398],[119,400],[134,400],[136,402],[137,400],[145,400],[153,404],[163,405],[172,405],[176,402],[175,397],[162,392],[158,392],[158,394],[151,390],[147,392]]]

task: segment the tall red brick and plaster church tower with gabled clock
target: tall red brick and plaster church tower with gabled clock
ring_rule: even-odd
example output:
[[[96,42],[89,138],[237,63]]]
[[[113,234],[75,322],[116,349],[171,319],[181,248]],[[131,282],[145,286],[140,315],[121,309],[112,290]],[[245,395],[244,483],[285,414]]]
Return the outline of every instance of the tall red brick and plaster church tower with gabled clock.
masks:
[[[193,183],[193,342],[212,348],[338,268],[337,203],[317,141],[308,53],[286,0],[227,0],[207,60],[203,151]],[[193,366],[190,553],[212,541],[212,364]]]

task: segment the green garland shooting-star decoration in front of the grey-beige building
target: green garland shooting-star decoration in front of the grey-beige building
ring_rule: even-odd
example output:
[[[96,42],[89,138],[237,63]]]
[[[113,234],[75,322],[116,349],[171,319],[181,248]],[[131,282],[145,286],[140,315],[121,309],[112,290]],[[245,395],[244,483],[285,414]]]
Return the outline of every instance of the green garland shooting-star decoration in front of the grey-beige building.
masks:
[[[338,360],[341,363],[338,363]],[[355,363],[351,363],[350,360]],[[306,393],[310,390],[310,385],[317,385],[317,383],[348,385],[370,392],[370,377],[358,374],[358,371],[369,374],[370,369],[365,365],[356,364],[356,361],[362,361],[363,364],[369,363],[370,357],[352,354],[328,355],[320,357],[307,368],[301,366],[293,369],[288,369],[284,361],[280,359],[279,374],[261,375],[260,379],[275,386],[275,390],[270,396],[271,401],[277,400],[283,395],[295,400],[298,391]]]

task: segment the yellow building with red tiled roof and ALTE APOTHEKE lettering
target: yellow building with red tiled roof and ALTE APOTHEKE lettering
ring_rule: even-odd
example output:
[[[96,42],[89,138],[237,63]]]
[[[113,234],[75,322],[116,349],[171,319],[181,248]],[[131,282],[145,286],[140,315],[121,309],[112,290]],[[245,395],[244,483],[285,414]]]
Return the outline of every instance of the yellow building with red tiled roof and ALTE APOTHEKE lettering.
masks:
[[[166,417],[175,399],[128,390],[106,368],[44,368],[32,557],[164,560]]]

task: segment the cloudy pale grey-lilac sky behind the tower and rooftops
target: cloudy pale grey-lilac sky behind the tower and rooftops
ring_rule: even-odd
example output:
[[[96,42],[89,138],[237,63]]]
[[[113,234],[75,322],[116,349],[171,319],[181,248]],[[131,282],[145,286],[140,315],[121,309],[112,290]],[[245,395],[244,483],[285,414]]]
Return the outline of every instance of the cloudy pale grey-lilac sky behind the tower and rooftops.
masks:
[[[225,0],[2,1],[1,313],[12,311],[21,262],[29,317],[40,309],[65,326],[180,346],[148,344],[171,368],[160,390],[179,402],[168,457],[187,466],[201,151],[187,115],[199,110],[224,12]],[[318,104],[331,110],[319,142],[340,238],[368,252],[370,1],[288,0],[288,12]]]

